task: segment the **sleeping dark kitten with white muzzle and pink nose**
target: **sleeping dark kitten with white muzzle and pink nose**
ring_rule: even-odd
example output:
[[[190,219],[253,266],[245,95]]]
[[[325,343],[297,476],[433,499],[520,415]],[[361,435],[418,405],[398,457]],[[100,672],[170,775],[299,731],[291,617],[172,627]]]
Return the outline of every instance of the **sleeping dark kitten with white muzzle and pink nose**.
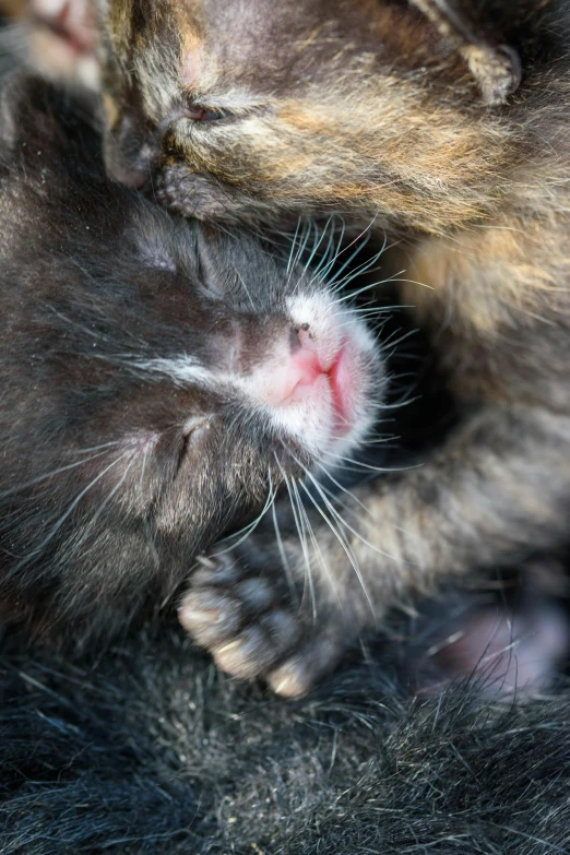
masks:
[[[316,272],[109,181],[82,102],[16,74],[0,115],[0,614],[108,636],[349,453],[382,360]]]

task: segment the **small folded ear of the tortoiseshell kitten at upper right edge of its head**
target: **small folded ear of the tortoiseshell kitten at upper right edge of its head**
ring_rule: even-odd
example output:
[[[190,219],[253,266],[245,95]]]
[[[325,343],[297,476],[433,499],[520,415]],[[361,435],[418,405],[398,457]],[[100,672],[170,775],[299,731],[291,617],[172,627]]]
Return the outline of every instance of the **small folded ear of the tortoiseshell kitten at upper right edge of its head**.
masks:
[[[485,104],[504,104],[521,83],[518,52],[494,41],[475,17],[474,3],[458,0],[409,0],[462,55]]]

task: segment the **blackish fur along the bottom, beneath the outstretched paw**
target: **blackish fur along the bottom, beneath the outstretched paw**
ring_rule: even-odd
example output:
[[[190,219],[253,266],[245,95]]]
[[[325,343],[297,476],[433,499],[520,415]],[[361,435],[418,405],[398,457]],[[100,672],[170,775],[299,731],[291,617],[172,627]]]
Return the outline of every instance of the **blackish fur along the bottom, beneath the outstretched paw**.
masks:
[[[570,852],[570,688],[419,703],[390,646],[287,703],[174,625],[91,662],[7,644],[2,855]]]

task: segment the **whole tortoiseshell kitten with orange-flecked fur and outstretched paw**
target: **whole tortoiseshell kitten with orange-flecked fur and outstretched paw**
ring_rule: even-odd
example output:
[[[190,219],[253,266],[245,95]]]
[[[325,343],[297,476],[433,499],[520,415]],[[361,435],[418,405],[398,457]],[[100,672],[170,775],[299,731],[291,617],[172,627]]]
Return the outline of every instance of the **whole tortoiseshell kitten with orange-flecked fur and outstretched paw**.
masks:
[[[247,620],[206,631],[218,597],[251,608],[219,568],[187,602],[186,625],[225,667],[295,694],[411,591],[568,539],[570,15],[561,0],[99,11],[110,174],[152,179],[187,216],[343,211],[404,237],[402,301],[464,409],[423,468],[328,508],[340,532],[317,514],[318,549],[292,537],[241,556],[249,590],[282,574],[284,555],[299,586],[309,568],[319,620],[301,610],[294,645],[252,642]]]

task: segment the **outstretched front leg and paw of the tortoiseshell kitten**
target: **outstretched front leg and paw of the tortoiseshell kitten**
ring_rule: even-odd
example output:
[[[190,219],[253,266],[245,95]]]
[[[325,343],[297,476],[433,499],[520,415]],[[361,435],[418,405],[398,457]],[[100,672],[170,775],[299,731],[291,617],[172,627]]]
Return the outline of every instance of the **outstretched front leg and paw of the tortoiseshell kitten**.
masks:
[[[357,488],[336,511],[342,525],[324,504],[336,535],[313,514],[314,538],[305,523],[302,543],[253,537],[210,565],[180,619],[223,669],[299,694],[412,592],[563,541],[569,496],[570,418],[488,408],[424,466]],[[298,597],[288,607],[283,553]]]

